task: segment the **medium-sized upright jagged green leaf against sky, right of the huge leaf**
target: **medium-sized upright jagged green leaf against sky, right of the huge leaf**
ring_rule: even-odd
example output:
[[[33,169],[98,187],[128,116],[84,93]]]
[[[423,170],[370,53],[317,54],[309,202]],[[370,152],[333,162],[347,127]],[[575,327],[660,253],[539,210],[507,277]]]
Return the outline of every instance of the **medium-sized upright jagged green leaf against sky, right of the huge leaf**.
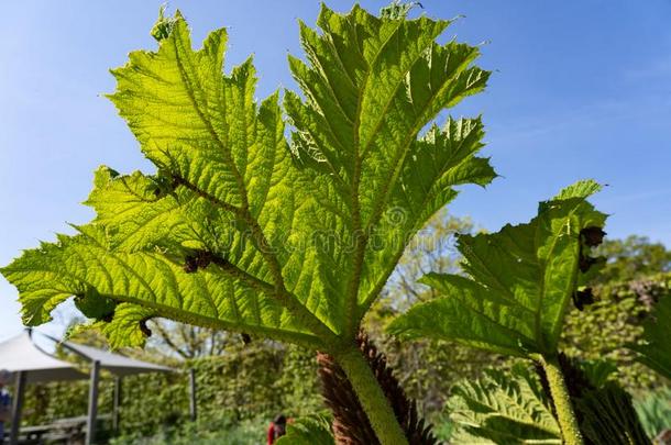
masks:
[[[585,199],[598,190],[580,181],[541,202],[529,223],[493,234],[459,237],[470,276],[430,274],[424,282],[441,298],[396,319],[391,332],[442,337],[502,354],[556,354],[566,308],[576,291],[584,230],[602,227],[605,215]]]

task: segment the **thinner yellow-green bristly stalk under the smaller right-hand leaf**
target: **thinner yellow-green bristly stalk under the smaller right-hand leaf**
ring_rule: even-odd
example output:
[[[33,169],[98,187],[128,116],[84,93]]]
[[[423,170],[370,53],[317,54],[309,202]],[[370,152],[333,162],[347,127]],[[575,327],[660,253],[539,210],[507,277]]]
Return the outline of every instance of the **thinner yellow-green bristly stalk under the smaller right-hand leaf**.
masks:
[[[541,365],[548,377],[548,383],[550,386],[550,393],[552,401],[554,402],[554,410],[557,411],[557,420],[559,421],[559,427],[561,429],[561,435],[566,445],[583,445],[583,436],[578,426],[578,419],[571,404],[571,397],[569,396],[569,389],[564,382],[564,376],[561,372],[561,367],[557,357],[551,359],[547,357],[541,358]]]

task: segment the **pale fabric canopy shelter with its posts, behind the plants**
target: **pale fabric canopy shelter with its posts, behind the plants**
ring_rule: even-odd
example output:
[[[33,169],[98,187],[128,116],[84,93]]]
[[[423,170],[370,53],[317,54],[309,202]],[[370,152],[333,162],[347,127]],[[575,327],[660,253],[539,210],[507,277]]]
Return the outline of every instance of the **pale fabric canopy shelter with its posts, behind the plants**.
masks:
[[[73,352],[90,361],[90,387],[89,408],[87,416],[86,443],[91,444],[96,436],[96,419],[98,415],[98,385],[100,381],[100,369],[106,369],[114,375],[114,427],[119,421],[119,405],[121,402],[121,378],[143,372],[167,372],[172,368],[142,361],[134,358],[113,354],[108,351],[80,345],[72,342],[61,342],[46,335],[65,349]],[[32,382],[48,382],[63,380],[86,379],[86,374],[67,361],[55,358],[41,349],[32,338],[32,331],[28,329],[20,335],[0,343],[0,369],[7,369],[14,376],[14,398],[12,405],[12,429],[10,444],[16,444],[19,440],[19,426],[21,424],[21,408],[25,385]],[[191,418],[196,415],[195,405],[195,378],[191,372]],[[1,442],[1,437],[0,437]]]

